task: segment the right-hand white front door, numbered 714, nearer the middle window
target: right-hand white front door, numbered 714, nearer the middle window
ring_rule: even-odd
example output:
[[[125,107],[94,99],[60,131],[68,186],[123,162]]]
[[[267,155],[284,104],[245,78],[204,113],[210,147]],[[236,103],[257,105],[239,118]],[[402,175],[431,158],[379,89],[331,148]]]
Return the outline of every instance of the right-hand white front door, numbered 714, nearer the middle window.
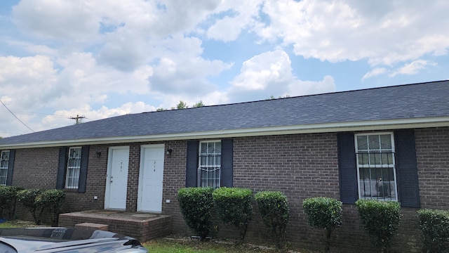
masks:
[[[139,212],[162,212],[164,145],[142,145],[138,193]]]

